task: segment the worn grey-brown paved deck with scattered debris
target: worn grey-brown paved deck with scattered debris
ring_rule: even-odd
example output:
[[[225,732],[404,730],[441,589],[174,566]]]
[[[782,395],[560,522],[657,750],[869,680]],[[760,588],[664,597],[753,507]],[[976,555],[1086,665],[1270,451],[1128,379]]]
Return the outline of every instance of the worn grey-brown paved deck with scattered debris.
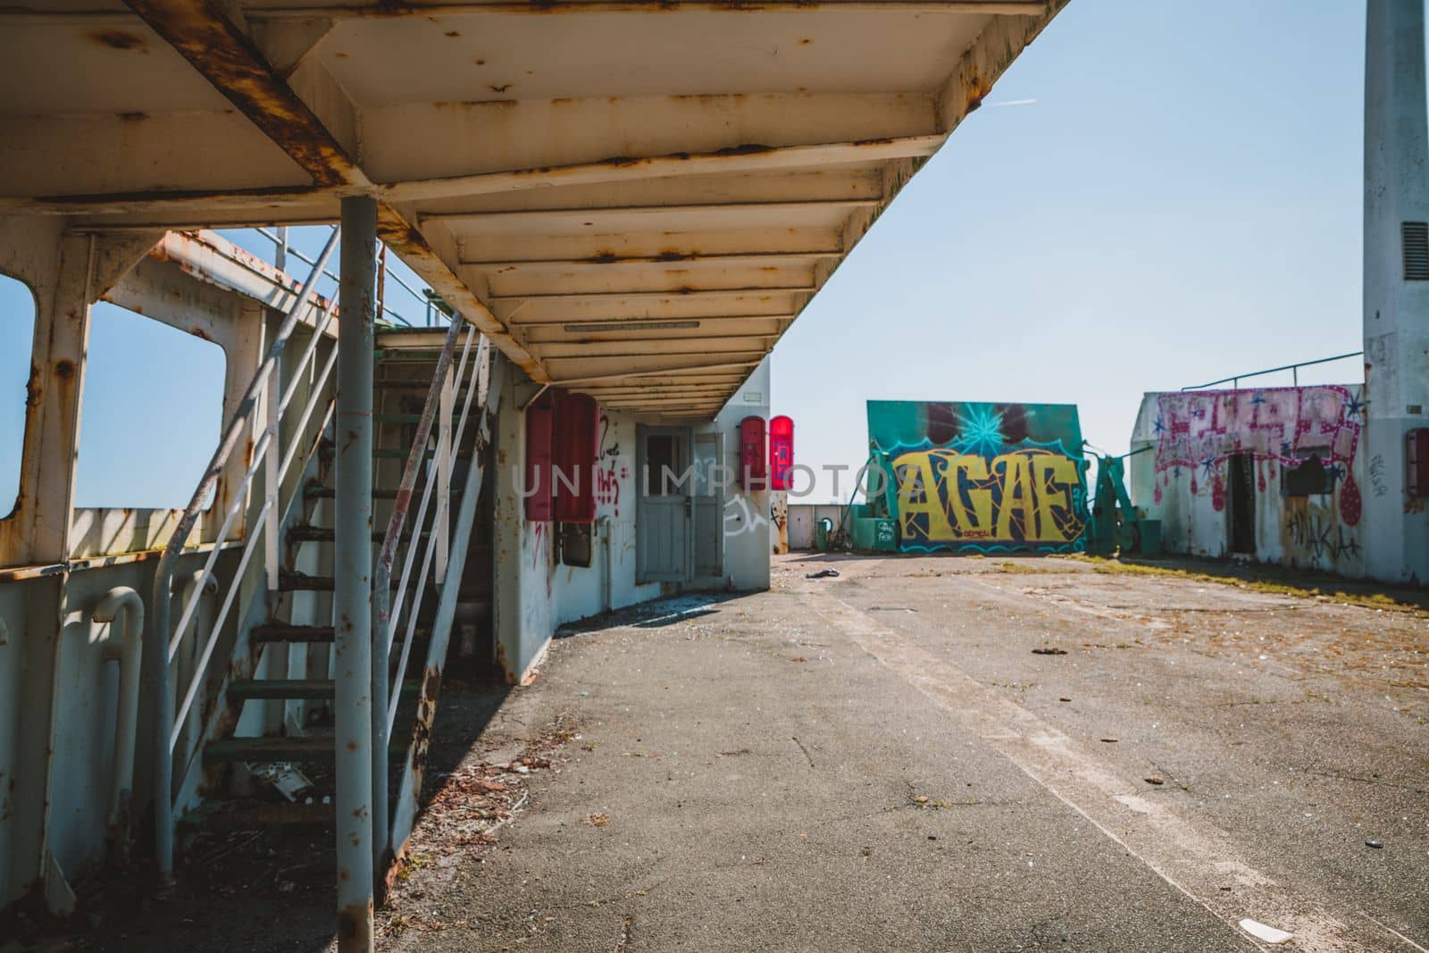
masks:
[[[450,776],[519,809],[437,793],[383,949],[1425,950],[1426,724],[1419,614],[777,557],[559,639]]]

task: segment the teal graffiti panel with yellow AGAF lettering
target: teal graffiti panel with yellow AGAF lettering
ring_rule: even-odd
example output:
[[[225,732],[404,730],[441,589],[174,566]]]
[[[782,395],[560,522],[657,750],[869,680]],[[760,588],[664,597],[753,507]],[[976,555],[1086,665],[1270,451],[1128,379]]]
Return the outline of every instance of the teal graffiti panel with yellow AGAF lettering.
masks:
[[[1080,552],[1082,426],[1070,404],[870,400],[903,552]]]

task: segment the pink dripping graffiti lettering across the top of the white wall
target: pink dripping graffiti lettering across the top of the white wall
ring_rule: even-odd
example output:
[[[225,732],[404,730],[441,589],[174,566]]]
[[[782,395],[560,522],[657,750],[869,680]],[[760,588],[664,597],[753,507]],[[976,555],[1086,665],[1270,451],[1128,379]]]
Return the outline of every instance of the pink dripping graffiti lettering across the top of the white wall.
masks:
[[[1365,403],[1348,387],[1266,387],[1160,394],[1156,401],[1156,502],[1170,477],[1190,471],[1212,483],[1212,504],[1225,506],[1222,463],[1232,454],[1256,460],[1256,487],[1275,479],[1272,463],[1298,467],[1312,456],[1342,480],[1340,519],[1355,526],[1363,513],[1352,466]],[[1269,470],[1269,474],[1268,474]]]

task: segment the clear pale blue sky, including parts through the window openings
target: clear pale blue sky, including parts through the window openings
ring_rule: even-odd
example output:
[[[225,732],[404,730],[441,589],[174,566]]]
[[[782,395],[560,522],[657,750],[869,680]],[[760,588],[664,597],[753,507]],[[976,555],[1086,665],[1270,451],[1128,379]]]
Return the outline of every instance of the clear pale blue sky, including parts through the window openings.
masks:
[[[860,464],[870,399],[1076,403],[1120,453],[1143,391],[1358,350],[1363,20],[1359,0],[1073,0],[780,341],[797,459]],[[29,320],[0,279],[0,512]],[[90,356],[79,504],[183,506],[221,354],[100,306]]]

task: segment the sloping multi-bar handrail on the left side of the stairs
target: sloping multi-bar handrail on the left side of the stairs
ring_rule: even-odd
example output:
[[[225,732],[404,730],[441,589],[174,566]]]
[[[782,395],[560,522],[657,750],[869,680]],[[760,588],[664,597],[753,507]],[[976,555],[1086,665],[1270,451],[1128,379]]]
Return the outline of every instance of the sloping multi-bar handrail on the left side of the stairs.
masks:
[[[273,343],[270,344],[263,360],[259,363],[257,369],[253,371],[253,377],[249,380],[249,386],[244,389],[243,397],[239,400],[239,406],[234,410],[233,417],[229,420],[227,427],[224,429],[223,437],[219,441],[219,449],[214,450],[213,459],[209,461],[209,467],[204,470],[204,474],[199,480],[199,486],[193,493],[193,499],[184,509],[183,516],[179,519],[179,524],[174,527],[173,536],[170,536],[169,544],[164,547],[164,554],[159,560],[159,567],[154,573],[151,624],[144,633],[144,642],[146,642],[144,683],[150,697],[157,706],[157,717],[154,720],[154,764],[153,764],[154,853],[159,860],[160,879],[166,883],[173,879],[173,836],[174,836],[173,749],[177,744],[180,734],[179,724],[183,723],[183,717],[187,716],[187,712],[193,706],[194,697],[197,696],[199,687],[204,682],[209,659],[211,657],[213,649],[217,644],[217,633],[221,630],[223,622],[227,619],[227,613],[231,609],[234,599],[237,597],[237,592],[242,586],[243,573],[247,569],[249,560],[253,556],[254,542],[260,536],[272,536],[273,533],[273,523],[272,522],[264,523],[264,520],[269,516],[269,513],[274,510],[277,504],[277,493],[282,484],[282,479],[279,477],[276,486],[266,487],[264,502],[254,522],[254,524],[264,526],[266,532],[249,533],[249,537],[243,547],[243,554],[239,557],[239,567],[234,573],[229,593],[224,597],[223,607],[209,630],[209,639],[207,644],[204,646],[201,659],[194,666],[189,690],[184,694],[183,709],[181,709],[183,716],[180,716],[179,719],[174,717],[174,699],[169,692],[169,663],[173,659],[173,650],[176,649],[176,646],[170,644],[170,629],[169,629],[169,616],[170,616],[169,609],[173,590],[174,567],[179,562],[179,557],[184,552],[184,543],[187,542],[189,534],[193,532],[194,524],[199,522],[199,514],[204,510],[204,506],[209,502],[210,494],[217,486],[219,479],[223,476],[223,471],[229,463],[229,457],[231,457],[234,447],[237,447],[239,439],[243,436],[243,431],[246,429],[250,427],[256,429],[254,426],[256,420],[252,419],[259,410],[260,400],[270,406],[270,414],[269,414],[270,424],[264,430],[263,436],[259,437],[259,440],[254,443],[253,460],[249,469],[246,470],[240,486],[236,487],[233,492],[233,502],[229,504],[229,509],[224,513],[223,524],[219,530],[217,539],[220,543],[227,537],[227,533],[233,526],[233,520],[236,519],[239,509],[244,503],[244,494],[242,493],[242,490],[252,484],[253,477],[257,474],[259,466],[264,463],[264,457],[267,456],[269,449],[273,447],[276,441],[277,437],[276,423],[272,421],[280,419],[280,410],[282,407],[287,406],[287,401],[292,400],[294,389],[290,384],[287,393],[282,396],[279,407],[276,409],[277,413],[273,413],[274,410],[272,409],[273,394],[270,393],[269,389],[272,383],[276,380],[274,371],[279,367],[279,360],[282,359],[282,354],[287,347],[287,343],[292,339],[293,331],[299,324],[300,316],[303,314],[304,309],[313,307],[310,304],[310,297],[313,296],[317,281],[323,274],[323,269],[327,260],[332,257],[333,250],[337,247],[337,240],[339,240],[339,230],[334,227],[329,234],[327,243],[323,246],[322,253],[313,261],[312,273],[307,276],[307,280],[303,283],[302,290],[293,300],[292,307],[287,310],[283,323],[279,326],[279,330],[273,337]],[[329,304],[323,310],[320,327],[326,327],[330,320],[332,320],[332,304]],[[314,327],[312,343],[303,356],[304,363],[293,373],[294,383],[302,377],[306,363],[312,360],[313,354],[316,354],[316,341],[320,337],[322,331]],[[336,353],[336,349],[333,350]],[[332,361],[329,361],[329,367],[330,364]],[[322,393],[323,393],[322,386],[313,389],[312,397],[309,399],[309,406],[304,409],[304,417],[303,417],[304,420],[307,420],[307,417],[312,414],[312,404],[316,403],[316,400]],[[292,454],[289,454],[286,463],[292,463]],[[282,470],[276,467],[269,467],[270,477],[274,473],[280,471]],[[213,567],[217,560],[219,549],[220,547],[214,547],[204,563],[200,583],[193,587],[193,596],[190,597],[189,603],[184,606],[184,610],[181,613],[180,624],[177,629],[179,633],[183,633],[187,629],[187,624],[191,620],[193,613],[196,612],[199,596],[201,594],[207,580],[213,576]]]

